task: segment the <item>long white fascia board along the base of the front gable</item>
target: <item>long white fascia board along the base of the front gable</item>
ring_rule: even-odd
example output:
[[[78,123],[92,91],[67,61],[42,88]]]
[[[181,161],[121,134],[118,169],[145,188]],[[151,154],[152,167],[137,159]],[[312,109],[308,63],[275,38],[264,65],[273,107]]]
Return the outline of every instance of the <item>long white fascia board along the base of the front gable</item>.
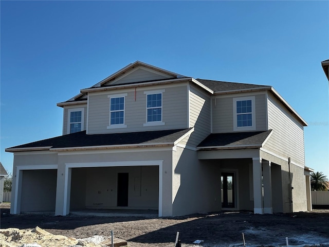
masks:
[[[173,83],[173,82],[184,82],[184,81],[191,81],[191,80],[192,80],[191,77],[185,77],[185,78],[168,79],[168,80],[162,80],[162,81],[141,82],[141,83],[136,83],[136,84],[95,87],[95,88],[82,89],[81,93],[107,91],[107,90],[117,90],[117,89],[128,89],[128,88],[134,88],[134,87],[160,85],[160,84],[168,84],[168,83]]]

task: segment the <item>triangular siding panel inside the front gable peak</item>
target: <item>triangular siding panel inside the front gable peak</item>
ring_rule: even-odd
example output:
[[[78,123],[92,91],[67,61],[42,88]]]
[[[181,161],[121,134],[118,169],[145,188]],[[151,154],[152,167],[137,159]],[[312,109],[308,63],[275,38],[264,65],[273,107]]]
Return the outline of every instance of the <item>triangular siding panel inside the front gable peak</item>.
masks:
[[[117,84],[123,84],[123,83],[132,83],[132,82],[138,82],[138,81],[156,81],[156,80],[163,80],[168,79],[169,76],[162,76],[159,74],[155,74],[152,72],[149,72],[148,70],[144,69],[137,69],[136,71],[132,72],[131,74],[123,77],[122,79],[119,79],[112,85]]]

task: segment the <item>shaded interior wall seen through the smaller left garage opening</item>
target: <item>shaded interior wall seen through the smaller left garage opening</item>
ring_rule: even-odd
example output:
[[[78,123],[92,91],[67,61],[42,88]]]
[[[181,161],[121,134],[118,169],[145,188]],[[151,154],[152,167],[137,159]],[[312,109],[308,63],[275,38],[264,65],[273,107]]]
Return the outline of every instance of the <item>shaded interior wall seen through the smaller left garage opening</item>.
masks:
[[[21,211],[55,210],[57,170],[24,170]]]

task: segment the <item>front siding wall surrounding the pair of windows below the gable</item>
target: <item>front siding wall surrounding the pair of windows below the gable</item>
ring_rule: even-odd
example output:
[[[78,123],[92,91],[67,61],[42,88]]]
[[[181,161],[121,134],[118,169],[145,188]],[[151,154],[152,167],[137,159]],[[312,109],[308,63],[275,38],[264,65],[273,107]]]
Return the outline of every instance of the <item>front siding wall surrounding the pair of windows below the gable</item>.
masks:
[[[146,89],[146,87],[145,87]],[[167,130],[187,128],[187,86],[162,87],[165,92],[162,93],[162,121],[165,126],[148,126],[146,123],[146,94],[150,90],[140,90],[129,92],[125,97],[124,123],[127,128],[107,129],[109,126],[109,98],[107,94],[90,94],[89,95],[89,119],[88,133],[122,133],[149,130]],[[153,89],[153,90],[160,90]],[[111,94],[116,94],[111,92]]]

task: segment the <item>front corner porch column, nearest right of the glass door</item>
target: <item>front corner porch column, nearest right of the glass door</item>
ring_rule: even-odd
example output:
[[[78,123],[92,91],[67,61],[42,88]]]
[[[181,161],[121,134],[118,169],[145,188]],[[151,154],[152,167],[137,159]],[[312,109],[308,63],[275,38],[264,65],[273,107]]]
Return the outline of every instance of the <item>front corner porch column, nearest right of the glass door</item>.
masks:
[[[253,213],[264,214],[263,209],[263,189],[262,189],[262,159],[252,158],[253,177]]]

